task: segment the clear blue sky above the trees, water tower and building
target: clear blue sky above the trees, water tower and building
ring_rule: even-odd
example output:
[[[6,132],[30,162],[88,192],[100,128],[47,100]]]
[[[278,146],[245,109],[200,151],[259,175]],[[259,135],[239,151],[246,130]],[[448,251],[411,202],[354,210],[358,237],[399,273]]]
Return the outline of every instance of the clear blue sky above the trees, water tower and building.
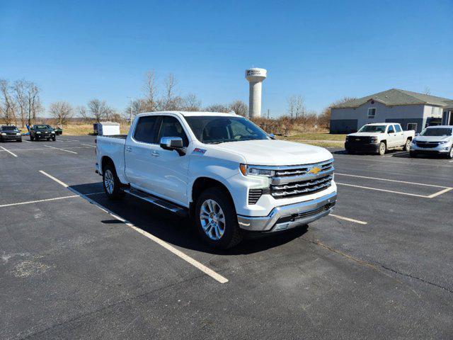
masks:
[[[263,111],[302,94],[321,111],[390,88],[453,98],[453,1],[0,0],[0,78],[42,101],[140,96],[169,72],[204,106],[248,103],[248,67],[268,69]]]

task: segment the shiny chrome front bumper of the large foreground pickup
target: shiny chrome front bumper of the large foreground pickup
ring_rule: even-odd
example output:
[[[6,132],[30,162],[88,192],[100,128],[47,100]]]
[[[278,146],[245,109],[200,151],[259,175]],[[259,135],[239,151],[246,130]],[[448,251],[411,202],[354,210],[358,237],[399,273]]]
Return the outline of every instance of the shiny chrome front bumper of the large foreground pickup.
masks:
[[[273,208],[268,216],[238,215],[239,227],[254,232],[277,232],[306,225],[328,215],[335,205],[337,193],[329,193],[315,200]]]

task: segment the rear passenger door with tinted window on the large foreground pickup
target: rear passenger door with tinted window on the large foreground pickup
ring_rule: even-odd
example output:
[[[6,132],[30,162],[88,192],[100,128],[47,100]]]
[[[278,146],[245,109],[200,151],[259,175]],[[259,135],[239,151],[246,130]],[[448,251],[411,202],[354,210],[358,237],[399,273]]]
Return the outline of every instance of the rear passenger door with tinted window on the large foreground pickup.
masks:
[[[157,144],[161,117],[145,115],[139,117],[134,132],[125,143],[125,175],[134,188],[151,191],[154,181],[154,159],[160,147]]]

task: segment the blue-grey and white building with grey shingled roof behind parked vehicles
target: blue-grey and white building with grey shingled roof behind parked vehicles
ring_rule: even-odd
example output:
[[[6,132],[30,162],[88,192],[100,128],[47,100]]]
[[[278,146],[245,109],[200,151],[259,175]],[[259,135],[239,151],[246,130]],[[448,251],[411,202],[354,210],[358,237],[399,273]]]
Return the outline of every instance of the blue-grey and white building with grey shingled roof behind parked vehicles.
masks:
[[[400,123],[421,132],[427,125],[453,124],[450,111],[452,99],[390,89],[332,106],[331,133],[355,132],[367,123]]]

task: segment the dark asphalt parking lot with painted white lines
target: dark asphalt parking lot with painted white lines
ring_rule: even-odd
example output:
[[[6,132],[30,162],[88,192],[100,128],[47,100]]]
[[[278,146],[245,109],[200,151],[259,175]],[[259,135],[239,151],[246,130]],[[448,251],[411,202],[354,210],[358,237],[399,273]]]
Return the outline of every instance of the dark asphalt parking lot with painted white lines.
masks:
[[[213,251],[108,201],[94,137],[0,147],[0,339],[453,337],[448,159],[333,150],[333,215]]]

